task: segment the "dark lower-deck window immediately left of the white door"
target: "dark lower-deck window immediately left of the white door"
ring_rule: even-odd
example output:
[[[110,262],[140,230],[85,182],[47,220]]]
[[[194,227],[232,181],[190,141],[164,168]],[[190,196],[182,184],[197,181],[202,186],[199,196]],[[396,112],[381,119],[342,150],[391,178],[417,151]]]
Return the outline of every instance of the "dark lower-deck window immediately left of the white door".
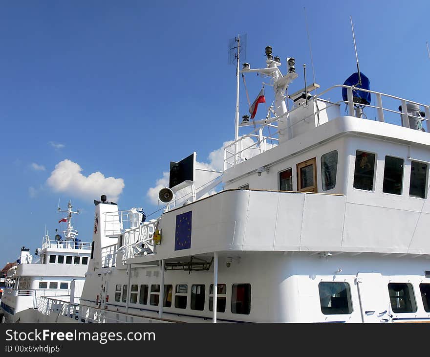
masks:
[[[348,283],[321,282],[321,312],[324,315],[349,314],[352,312],[351,292]]]

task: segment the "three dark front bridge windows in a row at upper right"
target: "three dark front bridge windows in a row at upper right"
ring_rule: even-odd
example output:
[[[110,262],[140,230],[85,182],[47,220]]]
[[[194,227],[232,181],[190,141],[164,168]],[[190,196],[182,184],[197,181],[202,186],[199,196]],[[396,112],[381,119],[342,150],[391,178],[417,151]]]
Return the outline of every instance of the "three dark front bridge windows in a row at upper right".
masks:
[[[355,155],[354,188],[366,191],[373,190],[375,163],[375,154],[357,150]],[[402,194],[404,166],[403,158],[385,156],[382,192],[394,195]],[[426,198],[427,172],[427,164],[411,161],[409,196],[421,199]]]

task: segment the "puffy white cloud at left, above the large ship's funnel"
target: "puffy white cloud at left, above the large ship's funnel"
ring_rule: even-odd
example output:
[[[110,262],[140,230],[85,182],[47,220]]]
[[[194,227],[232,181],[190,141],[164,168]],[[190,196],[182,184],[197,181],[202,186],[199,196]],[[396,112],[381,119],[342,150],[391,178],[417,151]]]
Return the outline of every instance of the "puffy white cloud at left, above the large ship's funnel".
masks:
[[[81,198],[97,199],[107,195],[108,201],[118,201],[124,188],[123,179],[105,176],[97,171],[88,176],[81,174],[83,169],[76,162],[65,159],[55,165],[46,183],[55,192],[64,192]]]

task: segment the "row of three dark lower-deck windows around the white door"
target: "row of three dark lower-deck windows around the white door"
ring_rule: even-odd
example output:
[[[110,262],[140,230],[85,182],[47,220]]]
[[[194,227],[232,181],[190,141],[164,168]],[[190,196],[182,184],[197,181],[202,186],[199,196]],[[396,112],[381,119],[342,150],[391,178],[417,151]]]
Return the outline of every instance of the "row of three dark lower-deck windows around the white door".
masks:
[[[351,291],[348,283],[321,282],[321,311],[324,315],[352,313]],[[430,312],[430,284],[420,284],[424,310]],[[395,313],[416,312],[417,305],[412,284],[389,283],[388,294],[391,310]]]

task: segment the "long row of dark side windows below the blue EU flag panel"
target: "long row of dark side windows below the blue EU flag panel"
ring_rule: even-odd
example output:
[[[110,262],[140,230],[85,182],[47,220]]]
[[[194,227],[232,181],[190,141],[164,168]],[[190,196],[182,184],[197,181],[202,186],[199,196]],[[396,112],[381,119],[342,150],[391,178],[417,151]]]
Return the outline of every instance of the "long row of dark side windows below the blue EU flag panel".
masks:
[[[116,285],[115,301],[127,302],[127,285]],[[160,285],[142,284],[131,285],[130,304],[159,306]],[[190,306],[188,306],[190,301]],[[204,284],[194,284],[189,291],[187,284],[164,286],[163,307],[176,309],[187,309],[203,311],[205,310],[206,286]],[[217,285],[216,311],[225,312],[227,301],[227,285]],[[209,287],[209,311],[213,311],[214,304],[214,284]],[[172,306],[173,305],[173,306]],[[249,314],[251,312],[251,284],[233,284],[231,312]]]

